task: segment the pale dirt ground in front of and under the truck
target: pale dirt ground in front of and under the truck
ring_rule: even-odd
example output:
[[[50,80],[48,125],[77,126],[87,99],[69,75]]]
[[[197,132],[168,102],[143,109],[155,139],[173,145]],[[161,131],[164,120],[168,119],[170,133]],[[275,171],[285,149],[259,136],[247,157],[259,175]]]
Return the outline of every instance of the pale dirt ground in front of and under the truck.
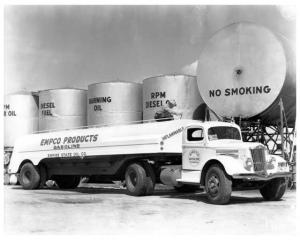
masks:
[[[230,204],[211,205],[203,192],[162,185],[153,196],[126,195],[117,185],[75,190],[4,186],[5,233],[38,234],[295,234],[296,191],[266,202],[258,191],[233,192]]]

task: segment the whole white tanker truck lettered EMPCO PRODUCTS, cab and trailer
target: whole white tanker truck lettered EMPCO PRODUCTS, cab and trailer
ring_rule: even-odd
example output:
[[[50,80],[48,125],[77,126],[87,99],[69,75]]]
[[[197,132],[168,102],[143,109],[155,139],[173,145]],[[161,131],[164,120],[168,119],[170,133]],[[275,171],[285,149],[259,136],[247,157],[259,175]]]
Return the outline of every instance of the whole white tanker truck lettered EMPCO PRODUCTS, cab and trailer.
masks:
[[[158,182],[179,191],[204,187],[213,204],[232,190],[259,189],[279,200],[290,176],[287,162],[260,143],[241,140],[234,123],[173,120],[30,134],[14,147],[8,172],[24,189],[47,180],[76,188],[81,177],[124,181],[130,195],[151,195]]]

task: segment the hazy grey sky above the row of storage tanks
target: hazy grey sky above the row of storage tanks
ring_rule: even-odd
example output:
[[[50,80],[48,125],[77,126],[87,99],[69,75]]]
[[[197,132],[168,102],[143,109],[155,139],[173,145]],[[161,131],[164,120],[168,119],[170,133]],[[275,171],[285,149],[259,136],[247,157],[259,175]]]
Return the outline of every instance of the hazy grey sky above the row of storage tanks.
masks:
[[[296,45],[290,6],[6,6],[4,93],[195,74],[228,24],[261,24]]]

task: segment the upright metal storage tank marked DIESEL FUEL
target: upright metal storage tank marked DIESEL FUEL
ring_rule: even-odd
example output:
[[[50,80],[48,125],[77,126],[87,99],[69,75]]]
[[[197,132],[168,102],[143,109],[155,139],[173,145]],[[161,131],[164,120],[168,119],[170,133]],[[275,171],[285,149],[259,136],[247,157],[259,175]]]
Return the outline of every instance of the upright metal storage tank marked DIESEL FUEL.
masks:
[[[39,92],[39,130],[62,130],[86,126],[87,91],[50,89]]]

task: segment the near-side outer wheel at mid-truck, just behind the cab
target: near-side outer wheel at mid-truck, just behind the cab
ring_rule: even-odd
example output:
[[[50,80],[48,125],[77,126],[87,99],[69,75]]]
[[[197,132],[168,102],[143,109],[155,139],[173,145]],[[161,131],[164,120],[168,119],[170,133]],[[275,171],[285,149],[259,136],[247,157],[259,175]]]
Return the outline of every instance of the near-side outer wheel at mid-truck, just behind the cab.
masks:
[[[151,190],[145,168],[137,163],[126,169],[125,182],[127,192],[132,196],[144,196]]]

